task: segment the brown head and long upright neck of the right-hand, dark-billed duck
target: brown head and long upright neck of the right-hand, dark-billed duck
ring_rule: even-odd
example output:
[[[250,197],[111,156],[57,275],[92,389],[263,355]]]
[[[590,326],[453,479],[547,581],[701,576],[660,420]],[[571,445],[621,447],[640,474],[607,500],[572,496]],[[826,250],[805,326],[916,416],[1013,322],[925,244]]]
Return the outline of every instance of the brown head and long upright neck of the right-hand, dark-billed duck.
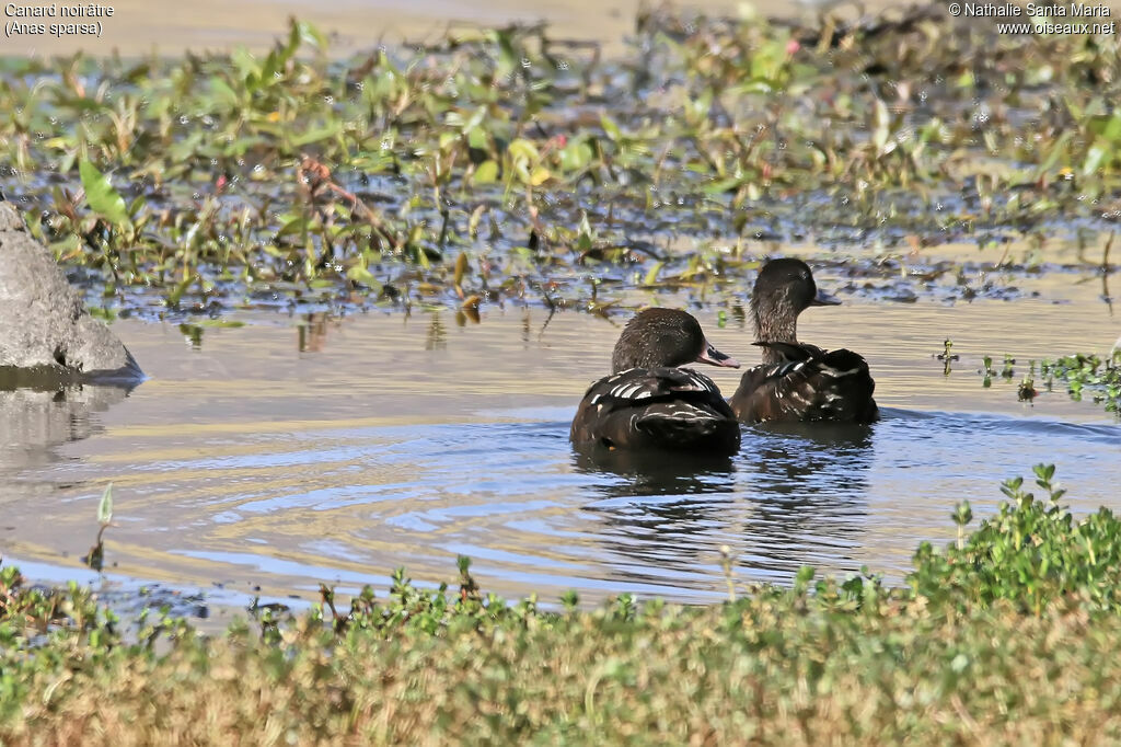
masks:
[[[810,306],[836,306],[840,303],[817,289],[814,274],[806,262],[790,258],[772,259],[759,270],[751,294],[756,340],[796,343],[798,314]]]

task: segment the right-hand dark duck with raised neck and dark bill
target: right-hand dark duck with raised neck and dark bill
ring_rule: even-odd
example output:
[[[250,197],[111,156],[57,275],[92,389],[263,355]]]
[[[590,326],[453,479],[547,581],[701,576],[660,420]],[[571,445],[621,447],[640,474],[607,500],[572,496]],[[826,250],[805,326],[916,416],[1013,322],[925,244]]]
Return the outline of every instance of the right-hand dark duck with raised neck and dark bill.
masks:
[[[772,259],[751,294],[754,344],[762,363],[743,372],[729,404],[744,423],[872,423],[879,407],[868,361],[851,350],[824,350],[798,342],[798,314],[841,302],[818,292],[800,259]]]

